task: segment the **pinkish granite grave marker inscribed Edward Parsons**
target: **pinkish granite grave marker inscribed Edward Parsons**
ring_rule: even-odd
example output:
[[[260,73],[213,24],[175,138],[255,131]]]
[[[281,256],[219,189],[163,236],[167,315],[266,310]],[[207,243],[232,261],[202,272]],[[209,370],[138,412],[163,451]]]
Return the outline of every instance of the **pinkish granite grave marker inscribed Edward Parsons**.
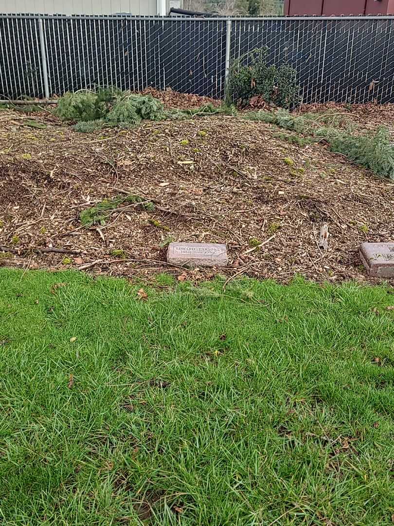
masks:
[[[227,247],[216,243],[170,243],[167,261],[188,267],[226,267]]]

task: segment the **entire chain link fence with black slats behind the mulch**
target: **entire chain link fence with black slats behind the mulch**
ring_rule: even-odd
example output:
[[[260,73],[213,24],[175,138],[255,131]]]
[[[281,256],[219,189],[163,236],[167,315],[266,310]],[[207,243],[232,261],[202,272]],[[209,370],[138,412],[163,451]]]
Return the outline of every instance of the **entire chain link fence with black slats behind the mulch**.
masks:
[[[304,103],[394,102],[394,17],[0,15],[0,96],[117,85],[222,98],[232,59],[267,46]]]

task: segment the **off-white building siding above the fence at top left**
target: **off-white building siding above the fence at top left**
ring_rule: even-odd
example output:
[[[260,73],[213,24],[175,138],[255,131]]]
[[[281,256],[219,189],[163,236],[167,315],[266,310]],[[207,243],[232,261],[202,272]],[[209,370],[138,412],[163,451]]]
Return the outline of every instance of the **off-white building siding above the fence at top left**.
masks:
[[[157,15],[157,0],[0,0],[0,13]]]

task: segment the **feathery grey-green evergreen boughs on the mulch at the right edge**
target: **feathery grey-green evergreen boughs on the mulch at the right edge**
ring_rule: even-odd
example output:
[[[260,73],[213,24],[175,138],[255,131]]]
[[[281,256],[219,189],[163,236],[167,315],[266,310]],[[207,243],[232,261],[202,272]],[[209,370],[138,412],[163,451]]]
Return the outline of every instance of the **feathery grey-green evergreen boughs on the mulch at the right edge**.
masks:
[[[380,177],[394,179],[394,146],[389,130],[378,128],[375,135],[354,136],[334,133],[328,136],[331,151],[346,155]]]

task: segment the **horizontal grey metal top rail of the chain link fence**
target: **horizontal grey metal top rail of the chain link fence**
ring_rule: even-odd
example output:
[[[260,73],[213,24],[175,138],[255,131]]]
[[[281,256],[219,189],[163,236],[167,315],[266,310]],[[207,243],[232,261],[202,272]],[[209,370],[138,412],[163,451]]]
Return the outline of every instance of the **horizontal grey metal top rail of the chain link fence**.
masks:
[[[315,21],[320,20],[394,20],[394,15],[377,16],[262,16],[262,17],[242,17],[242,16],[221,16],[221,17],[181,17],[181,16],[138,16],[138,15],[45,15],[45,14],[8,14],[0,13],[2,18],[28,18],[28,19],[61,19],[61,20],[137,20],[155,22],[264,22],[264,21]]]

